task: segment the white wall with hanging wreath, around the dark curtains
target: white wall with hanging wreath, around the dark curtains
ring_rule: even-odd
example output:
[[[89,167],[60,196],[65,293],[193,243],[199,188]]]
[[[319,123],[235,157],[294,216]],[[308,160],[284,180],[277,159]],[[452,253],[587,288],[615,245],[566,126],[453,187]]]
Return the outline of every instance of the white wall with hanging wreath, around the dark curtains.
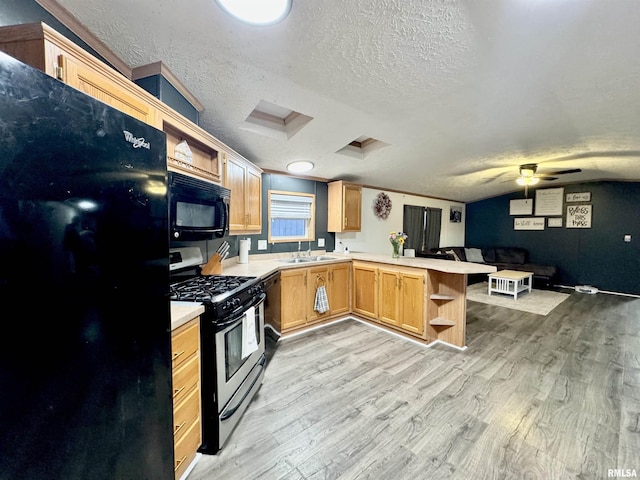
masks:
[[[373,205],[380,192],[386,193],[391,199],[391,213],[386,220],[376,217],[373,213]],[[442,225],[440,230],[440,246],[464,246],[464,226],[466,220],[464,203],[363,188],[362,231],[356,233],[336,233],[336,250],[340,249],[339,242],[342,242],[342,245],[349,247],[350,251],[388,253],[391,255],[389,233],[402,230],[402,212],[404,205],[441,208]],[[452,206],[462,208],[461,223],[451,223],[449,221],[449,210]]]

